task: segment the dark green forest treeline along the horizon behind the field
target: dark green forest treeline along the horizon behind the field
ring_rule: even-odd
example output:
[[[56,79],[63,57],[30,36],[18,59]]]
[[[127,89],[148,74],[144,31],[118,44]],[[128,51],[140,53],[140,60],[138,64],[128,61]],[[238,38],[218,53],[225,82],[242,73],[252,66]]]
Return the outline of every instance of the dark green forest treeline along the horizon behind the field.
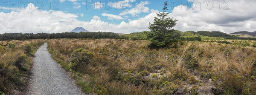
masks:
[[[202,40],[207,38],[211,40],[210,37],[220,37],[224,39],[240,39],[240,40],[256,40],[253,37],[237,37],[234,35],[228,35],[223,32],[213,31],[187,31],[187,32],[179,32],[181,35],[181,40]],[[30,39],[54,39],[54,38],[89,38],[89,39],[99,39],[99,38],[115,38],[115,39],[130,39],[130,40],[147,40],[148,31],[144,32],[135,32],[125,35],[118,35],[113,32],[63,32],[63,33],[4,33],[0,34],[0,40],[30,40]],[[206,40],[207,40],[206,39]]]

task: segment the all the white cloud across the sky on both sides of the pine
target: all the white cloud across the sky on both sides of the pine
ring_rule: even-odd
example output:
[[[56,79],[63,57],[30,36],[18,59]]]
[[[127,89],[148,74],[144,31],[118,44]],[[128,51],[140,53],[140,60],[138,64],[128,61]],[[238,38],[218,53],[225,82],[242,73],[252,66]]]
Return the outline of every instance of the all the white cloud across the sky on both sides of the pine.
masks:
[[[207,2],[207,1],[206,1]],[[214,3],[217,3],[213,1]],[[186,6],[176,6],[168,17],[178,19],[174,29],[180,31],[221,31],[231,33],[236,31],[256,31],[256,2],[255,1],[229,1],[230,10],[221,10],[218,6],[212,10],[207,8],[186,9]],[[29,4],[30,5],[30,4]],[[75,27],[83,27],[90,32],[116,32],[130,33],[149,30],[149,22],[154,22],[157,10],[151,9],[149,14],[137,20],[122,21],[118,24],[108,23],[93,17],[87,22],[77,20],[76,14],[62,11],[42,11],[29,6],[20,12],[0,12],[0,33],[4,32],[69,32]],[[216,4],[217,5],[217,4]],[[195,6],[195,5],[193,5]],[[204,5],[205,6],[205,5]],[[181,8],[181,9],[180,9]],[[108,19],[122,20],[120,15],[102,13]],[[26,23],[26,24],[21,24]]]

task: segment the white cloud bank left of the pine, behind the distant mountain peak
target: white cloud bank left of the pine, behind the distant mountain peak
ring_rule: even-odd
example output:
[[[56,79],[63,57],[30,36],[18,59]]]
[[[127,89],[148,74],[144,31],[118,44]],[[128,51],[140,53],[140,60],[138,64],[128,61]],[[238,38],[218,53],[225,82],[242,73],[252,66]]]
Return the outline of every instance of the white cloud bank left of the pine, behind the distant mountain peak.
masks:
[[[31,4],[31,8],[28,6],[26,9],[20,12],[4,13],[0,12],[0,33],[5,32],[22,32],[22,33],[57,33],[57,32],[69,32],[76,27],[83,27],[90,32],[116,32],[116,33],[130,33],[144,31],[148,27],[148,21],[154,21],[153,18],[156,15],[151,13],[146,17],[138,20],[131,20],[128,23],[121,22],[119,24],[113,24],[104,22],[101,20],[90,20],[89,22],[77,20],[76,14],[64,13],[62,11],[42,11],[35,8]],[[110,17],[115,17],[113,15]],[[122,17],[115,17],[122,19]],[[24,23],[26,24],[20,24]]]

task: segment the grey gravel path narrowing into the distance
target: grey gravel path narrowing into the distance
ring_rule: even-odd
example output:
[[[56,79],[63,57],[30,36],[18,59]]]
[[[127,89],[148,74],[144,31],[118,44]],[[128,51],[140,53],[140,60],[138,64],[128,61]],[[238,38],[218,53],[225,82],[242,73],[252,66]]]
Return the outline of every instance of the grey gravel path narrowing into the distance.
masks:
[[[52,59],[44,43],[33,59],[28,95],[84,95],[67,72]]]

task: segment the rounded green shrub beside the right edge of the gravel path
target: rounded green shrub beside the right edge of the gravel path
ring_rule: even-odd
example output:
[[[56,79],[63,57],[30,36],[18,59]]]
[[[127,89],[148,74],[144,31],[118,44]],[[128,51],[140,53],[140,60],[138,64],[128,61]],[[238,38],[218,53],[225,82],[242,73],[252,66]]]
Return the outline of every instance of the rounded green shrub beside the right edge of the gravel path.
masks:
[[[93,53],[84,49],[76,49],[71,53],[70,58],[70,69],[77,70],[79,66],[90,63],[93,58]]]

